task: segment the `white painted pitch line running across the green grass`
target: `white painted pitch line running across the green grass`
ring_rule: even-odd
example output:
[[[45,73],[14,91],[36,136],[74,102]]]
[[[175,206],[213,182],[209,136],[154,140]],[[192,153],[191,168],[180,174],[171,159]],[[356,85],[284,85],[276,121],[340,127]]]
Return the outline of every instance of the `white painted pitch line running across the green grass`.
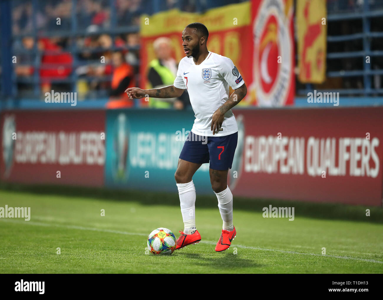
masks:
[[[111,229],[101,229],[101,228],[95,228],[95,227],[82,227],[82,226],[62,225],[62,224],[47,224],[47,223],[34,222],[34,221],[20,222],[20,221],[14,220],[14,219],[4,219],[4,218],[1,218],[0,220],[10,221],[10,222],[15,222],[15,223],[18,222],[20,224],[30,224],[30,225],[36,225],[36,226],[47,226],[47,227],[54,226],[54,227],[64,227],[64,228],[68,228],[68,229],[79,229],[79,230],[91,230],[91,231],[98,231],[98,232],[118,233],[118,234],[123,234],[123,235],[147,236],[146,233],[126,232],[126,231],[111,230]],[[209,245],[216,245],[216,243],[212,242],[212,241],[201,241],[201,243],[209,244]],[[313,255],[313,256],[321,256],[321,257],[333,257],[333,258],[340,258],[340,259],[351,259],[351,260],[355,260],[355,261],[366,261],[366,262],[374,262],[377,264],[383,264],[383,261],[377,261],[375,259],[358,258],[358,257],[352,257],[352,256],[340,256],[340,255],[333,255],[333,254],[323,255],[323,254],[318,254],[318,253],[304,253],[304,252],[297,252],[297,251],[287,251],[287,250],[279,250],[279,249],[250,247],[250,246],[244,246],[244,245],[235,245],[235,247],[244,248],[244,249],[252,249],[252,250],[274,251],[274,252],[289,253],[289,254],[302,254],[302,255]]]

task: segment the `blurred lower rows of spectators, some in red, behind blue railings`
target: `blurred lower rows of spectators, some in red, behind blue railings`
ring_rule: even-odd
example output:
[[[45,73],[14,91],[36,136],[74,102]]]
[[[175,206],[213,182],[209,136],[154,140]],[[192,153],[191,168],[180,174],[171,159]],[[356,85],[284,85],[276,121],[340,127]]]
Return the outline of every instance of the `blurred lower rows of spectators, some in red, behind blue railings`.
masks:
[[[75,43],[76,47],[73,47]],[[81,98],[108,96],[108,89],[115,69],[124,63],[131,67],[131,73],[138,73],[138,33],[111,36],[92,35],[78,38],[37,38],[25,36],[15,40],[13,49],[17,57],[16,76],[31,78],[38,76],[41,93],[56,88],[68,90],[70,75],[75,73],[77,92]],[[33,51],[36,48],[37,51]],[[71,51],[72,49],[76,51]],[[130,50],[129,50],[130,49]],[[133,50],[132,50],[133,49]],[[138,48],[137,48],[138,49]],[[115,57],[121,62],[117,63]],[[36,68],[38,66],[38,68]],[[21,80],[19,92],[30,93],[33,84]],[[94,94],[94,95],[93,95]],[[92,96],[93,95],[93,96]]]

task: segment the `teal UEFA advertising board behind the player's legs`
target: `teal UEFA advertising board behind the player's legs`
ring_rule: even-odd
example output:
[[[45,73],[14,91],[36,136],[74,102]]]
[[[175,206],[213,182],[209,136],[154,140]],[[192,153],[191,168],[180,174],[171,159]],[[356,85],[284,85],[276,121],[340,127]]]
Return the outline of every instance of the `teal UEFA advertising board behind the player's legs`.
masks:
[[[174,173],[193,122],[192,111],[108,111],[106,186],[176,192]],[[208,164],[201,166],[193,181],[198,192],[213,192]]]

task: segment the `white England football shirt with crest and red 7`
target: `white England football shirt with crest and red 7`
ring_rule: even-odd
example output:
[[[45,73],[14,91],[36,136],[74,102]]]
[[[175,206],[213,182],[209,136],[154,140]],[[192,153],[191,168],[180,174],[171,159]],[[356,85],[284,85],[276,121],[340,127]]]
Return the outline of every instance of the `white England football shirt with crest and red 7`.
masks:
[[[195,120],[191,131],[208,137],[221,137],[238,131],[233,112],[229,109],[222,123],[223,131],[213,135],[211,119],[214,112],[229,98],[229,85],[236,90],[244,84],[241,74],[228,57],[209,51],[206,59],[196,65],[193,57],[184,57],[178,64],[176,88],[189,93]]]

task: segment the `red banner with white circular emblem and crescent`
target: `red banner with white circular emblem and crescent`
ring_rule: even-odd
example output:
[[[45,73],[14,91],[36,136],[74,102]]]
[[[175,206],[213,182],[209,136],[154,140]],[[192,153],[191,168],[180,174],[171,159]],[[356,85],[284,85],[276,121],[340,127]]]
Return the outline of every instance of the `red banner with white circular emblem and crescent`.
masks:
[[[293,104],[295,95],[292,0],[253,0],[253,68],[246,101],[259,106]]]

